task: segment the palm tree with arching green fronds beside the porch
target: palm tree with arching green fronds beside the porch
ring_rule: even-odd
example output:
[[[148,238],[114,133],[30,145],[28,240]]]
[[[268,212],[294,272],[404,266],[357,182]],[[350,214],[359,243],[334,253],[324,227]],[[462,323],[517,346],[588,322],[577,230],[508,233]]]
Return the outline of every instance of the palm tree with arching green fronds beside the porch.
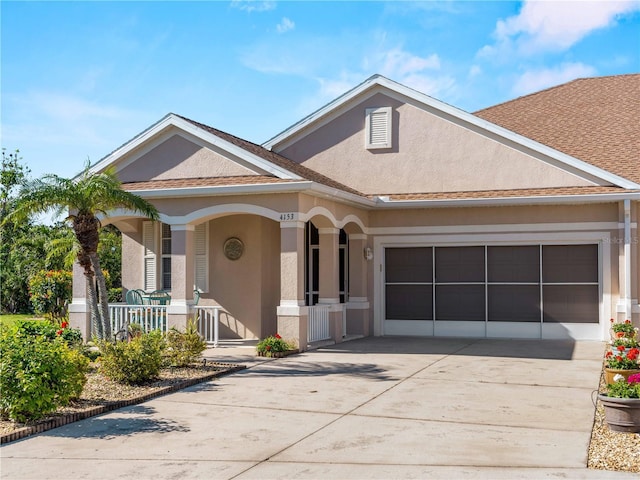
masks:
[[[151,220],[159,217],[152,204],[122,189],[115,170],[92,173],[87,163],[74,179],[45,175],[28,183],[20,192],[14,211],[8,215],[8,218],[23,220],[49,211],[58,215],[69,212],[66,221],[70,222],[78,241],[77,259],[84,270],[91,323],[99,339],[111,338],[111,322],[107,286],[98,258],[101,227],[98,215],[106,216],[117,208],[141,213]]]

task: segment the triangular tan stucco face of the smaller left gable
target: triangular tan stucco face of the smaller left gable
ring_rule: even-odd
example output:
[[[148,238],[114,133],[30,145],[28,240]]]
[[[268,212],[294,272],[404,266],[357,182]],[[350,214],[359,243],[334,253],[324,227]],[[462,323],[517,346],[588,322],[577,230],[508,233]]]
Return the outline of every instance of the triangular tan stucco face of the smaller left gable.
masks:
[[[180,135],[169,137],[118,171],[122,182],[255,174],[222,154]]]

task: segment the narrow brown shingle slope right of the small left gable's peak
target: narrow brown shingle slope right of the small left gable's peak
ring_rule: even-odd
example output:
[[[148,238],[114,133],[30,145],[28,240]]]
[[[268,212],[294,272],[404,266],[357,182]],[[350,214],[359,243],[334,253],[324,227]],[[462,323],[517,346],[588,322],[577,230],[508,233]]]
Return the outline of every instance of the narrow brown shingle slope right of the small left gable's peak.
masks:
[[[289,160],[288,158],[285,158],[282,155],[278,155],[277,153],[272,152],[271,150],[267,150],[266,148],[260,145],[257,145],[255,143],[249,142],[248,140],[244,140],[242,138],[236,137],[229,133],[223,132],[222,130],[218,130],[216,128],[210,127],[203,123],[196,122],[194,120],[183,117],[181,115],[176,115],[176,116],[182,118],[183,120],[186,120],[187,122],[195,125],[198,128],[201,128],[202,130],[205,130],[206,132],[209,132],[217,137],[222,138],[223,140],[226,140],[229,143],[232,143],[233,145],[236,145],[237,147],[240,147],[250,153],[253,153],[254,155],[257,155],[260,158],[267,160],[268,162],[271,162],[275,165],[278,165],[279,167],[289,170],[290,172],[295,173],[296,175],[299,175],[300,177],[306,180],[311,180],[312,182],[320,183],[322,185],[326,185],[327,187],[336,188],[338,190],[352,193],[354,195],[364,196],[362,193],[358,192],[357,190],[354,190],[351,187],[347,187],[346,185],[343,185],[340,182],[337,182],[329,177],[325,177],[324,175],[314,170],[311,170],[310,168],[307,168],[303,165],[300,165],[299,163]]]

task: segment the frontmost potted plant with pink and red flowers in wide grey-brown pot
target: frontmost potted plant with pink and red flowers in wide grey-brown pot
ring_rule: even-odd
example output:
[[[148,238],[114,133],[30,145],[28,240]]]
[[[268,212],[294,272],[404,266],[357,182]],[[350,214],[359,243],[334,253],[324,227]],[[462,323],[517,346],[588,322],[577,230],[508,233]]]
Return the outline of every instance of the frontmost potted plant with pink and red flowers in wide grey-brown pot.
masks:
[[[616,432],[640,433],[640,373],[625,378],[616,375],[607,385],[607,393],[599,394],[609,428]]]

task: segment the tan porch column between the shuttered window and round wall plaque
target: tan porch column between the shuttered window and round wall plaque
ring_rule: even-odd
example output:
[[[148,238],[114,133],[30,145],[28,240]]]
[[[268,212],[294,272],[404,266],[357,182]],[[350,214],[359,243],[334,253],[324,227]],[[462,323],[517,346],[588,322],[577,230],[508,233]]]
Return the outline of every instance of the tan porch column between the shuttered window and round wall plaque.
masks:
[[[167,306],[167,327],[184,330],[193,304],[193,225],[171,225],[171,303]]]

